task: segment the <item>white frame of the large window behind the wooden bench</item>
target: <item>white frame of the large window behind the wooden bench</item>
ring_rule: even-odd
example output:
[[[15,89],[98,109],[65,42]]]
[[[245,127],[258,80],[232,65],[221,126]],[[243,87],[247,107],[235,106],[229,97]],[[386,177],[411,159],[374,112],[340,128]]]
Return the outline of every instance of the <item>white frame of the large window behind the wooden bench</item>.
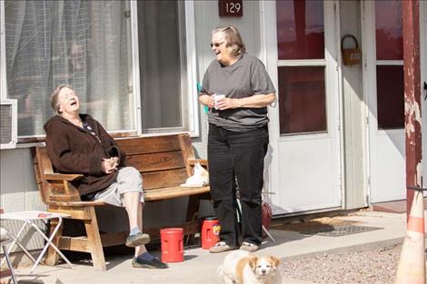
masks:
[[[137,23],[137,7],[136,0],[129,0],[129,7],[131,13],[130,19],[130,46],[131,56],[133,63],[130,65],[132,68],[132,75],[129,77],[129,91],[134,93],[134,130],[114,131],[110,132],[114,137],[127,137],[127,136],[145,136],[158,133],[176,133],[188,132],[192,137],[200,136],[200,122],[199,122],[199,108],[197,97],[197,67],[196,67],[196,47],[195,47],[195,18],[194,18],[194,3],[190,1],[184,2],[184,30],[180,31],[184,34],[183,48],[185,49],[185,56],[181,58],[185,61],[187,74],[186,79],[183,80],[182,99],[182,115],[183,125],[180,128],[159,128],[145,131],[142,129],[141,120],[141,91],[140,91],[140,77],[139,77],[139,54],[138,54],[138,23]],[[181,28],[181,27],[180,27]],[[5,63],[5,2],[0,1],[0,99],[7,99],[7,76],[6,76],[6,63]],[[35,143],[44,142],[45,135],[30,135],[18,136],[18,148],[31,147]]]

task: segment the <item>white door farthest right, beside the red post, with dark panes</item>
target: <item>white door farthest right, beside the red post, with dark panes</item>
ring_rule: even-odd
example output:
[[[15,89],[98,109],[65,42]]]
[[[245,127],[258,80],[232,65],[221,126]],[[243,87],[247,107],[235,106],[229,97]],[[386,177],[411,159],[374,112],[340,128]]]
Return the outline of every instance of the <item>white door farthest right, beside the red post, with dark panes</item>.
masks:
[[[402,1],[362,2],[370,202],[406,197]]]

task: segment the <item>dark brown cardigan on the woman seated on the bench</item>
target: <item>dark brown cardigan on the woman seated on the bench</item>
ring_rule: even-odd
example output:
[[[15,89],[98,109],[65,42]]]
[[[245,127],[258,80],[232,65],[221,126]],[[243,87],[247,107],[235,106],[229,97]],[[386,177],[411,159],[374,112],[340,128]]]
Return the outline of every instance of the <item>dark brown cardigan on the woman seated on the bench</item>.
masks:
[[[55,115],[45,123],[46,147],[56,171],[84,175],[74,185],[80,195],[86,195],[104,190],[117,178],[118,171],[109,174],[102,171],[102,159],[117,156],[119,166],[123,167],[125,154],[101,123],[87,114],[80,114],[80,118],[89,124],[97,137]]]

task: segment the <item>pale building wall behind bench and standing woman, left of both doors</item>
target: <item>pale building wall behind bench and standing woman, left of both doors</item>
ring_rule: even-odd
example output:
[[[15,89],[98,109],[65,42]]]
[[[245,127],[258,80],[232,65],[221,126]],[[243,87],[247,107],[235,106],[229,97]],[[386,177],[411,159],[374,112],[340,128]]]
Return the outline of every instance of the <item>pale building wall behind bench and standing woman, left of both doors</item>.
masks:
[[[202,82],[204,70],[214,59],[211,51],[211,32],[214,27],[235,24],[243,34],[248,52],[259,53],[259,4],[256,1],[243,1],[243,17],[220,18],[216,1],[194,1],[195,37],[197,51],[198,81]],[[204,108],[200,107],[200,137],[194,137],[194,152],[199,158],[207,158],[207,118]],[[5,211],[44,210],[33,171],[33,158],[30,148],[2,150],[0,152],[1,199],[0,207]],[[144,209],[144,225],[174,224],[184,220],[187,198],[172,201],[147,203]],[[212,214],[209,202],[203,203],[202,215]],[[101,230],[125,229],[127,219],[124,210],[103,208],[97,211]],[[108,221],[106,221],[108,220]],[[110,221],[115,220],[115,221]]]

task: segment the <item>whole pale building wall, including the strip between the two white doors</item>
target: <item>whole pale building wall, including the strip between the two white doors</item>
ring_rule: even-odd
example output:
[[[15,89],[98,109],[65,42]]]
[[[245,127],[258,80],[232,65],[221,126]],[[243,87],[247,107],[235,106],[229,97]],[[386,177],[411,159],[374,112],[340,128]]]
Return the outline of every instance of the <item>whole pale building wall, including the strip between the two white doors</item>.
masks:
[[[354,34],[361,38],[360,1],[340,2],[341,33]],[[354,13],[356,11],[356,13]],[[211,51],[211,33],[218,25],[234,24],[243,35],[249,53],[260,57],[260,9],[257,1],[243,1],[243,17],[219,17],[217,1],[194,1],[195,38],[197,52],[198,82],[202,82],[204,70],[214,60]],[[362,43],[359,43],[362,44]],[[362,95],[362,64],[343,66],[343,156],[345,161],[345,208],[360,208],[366,205],[366,146],[365,113]],[[207,158],[207,118],[204,108],[199,112],[201,134],[194,137],[194,152],[199,158]],[[362,159],[361,159],[362,157]],[[0,152],[0,207],[5,211],[40,210],[41,202],[32,168],[32,154],[29,148],[2,150]],[[144,210],[144,225],[154,223],[173,224],[184,220],[187,199],[147,203]],[[210,203],[204,204],[202,215],[212,213]],[[119,230],[125,227],[124,211],[103,209],[100,226],[104,230]],[[117,220],[114,222],[103,221]]]

